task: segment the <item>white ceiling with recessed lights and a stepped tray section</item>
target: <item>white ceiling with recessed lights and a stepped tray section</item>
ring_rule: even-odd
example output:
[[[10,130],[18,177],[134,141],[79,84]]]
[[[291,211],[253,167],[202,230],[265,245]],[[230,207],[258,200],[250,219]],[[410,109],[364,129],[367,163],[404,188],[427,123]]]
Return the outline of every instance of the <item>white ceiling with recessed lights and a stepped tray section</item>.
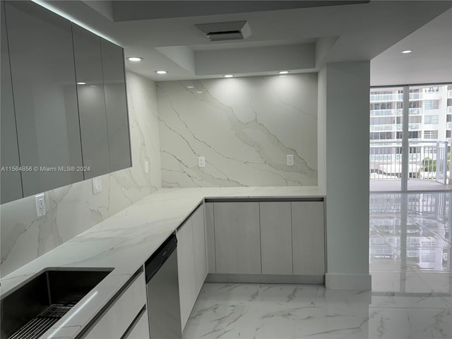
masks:
[[[372,85],[452,81],[452,1],[35,1],[143,57],[126,69],[155,81],[358,60],[372,60]],[[195,27],[239,20],[251,28],[242,41],[209,42]]]

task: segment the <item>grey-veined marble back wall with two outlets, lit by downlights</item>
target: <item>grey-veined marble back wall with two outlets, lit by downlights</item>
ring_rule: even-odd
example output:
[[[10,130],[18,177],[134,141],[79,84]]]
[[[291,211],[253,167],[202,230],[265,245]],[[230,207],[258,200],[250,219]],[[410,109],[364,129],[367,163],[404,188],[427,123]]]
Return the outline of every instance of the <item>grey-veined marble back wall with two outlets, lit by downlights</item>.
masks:
[[[317,185],[316,73],[158,82],[157,103],[162,186]]]

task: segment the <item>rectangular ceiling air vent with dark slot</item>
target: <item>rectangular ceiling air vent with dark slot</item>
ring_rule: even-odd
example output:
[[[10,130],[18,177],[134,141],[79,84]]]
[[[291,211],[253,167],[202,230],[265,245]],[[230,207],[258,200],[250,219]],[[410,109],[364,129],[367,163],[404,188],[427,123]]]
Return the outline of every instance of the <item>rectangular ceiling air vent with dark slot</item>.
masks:
[[[210,41],[244,40],[251,35],[247,21],[195,25]]]

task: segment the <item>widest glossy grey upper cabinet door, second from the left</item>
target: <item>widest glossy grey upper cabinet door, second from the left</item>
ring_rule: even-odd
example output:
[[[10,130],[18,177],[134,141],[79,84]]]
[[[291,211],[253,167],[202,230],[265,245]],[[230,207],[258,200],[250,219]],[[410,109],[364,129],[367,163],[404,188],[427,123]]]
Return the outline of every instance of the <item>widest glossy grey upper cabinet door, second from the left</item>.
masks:
[[[30,196],[83,179],[71,23],[32,1],[5,7],[20,165],[35,167],[22,172]]]

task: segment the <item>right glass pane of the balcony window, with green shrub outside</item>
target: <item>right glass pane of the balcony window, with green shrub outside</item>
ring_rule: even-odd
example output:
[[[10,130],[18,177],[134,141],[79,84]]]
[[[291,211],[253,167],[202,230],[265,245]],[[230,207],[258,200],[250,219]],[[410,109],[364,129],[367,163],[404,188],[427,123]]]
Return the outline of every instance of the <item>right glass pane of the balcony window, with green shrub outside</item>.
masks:
[[[452,85],[410,87],[408,190],[447,188],[451,114]]]

